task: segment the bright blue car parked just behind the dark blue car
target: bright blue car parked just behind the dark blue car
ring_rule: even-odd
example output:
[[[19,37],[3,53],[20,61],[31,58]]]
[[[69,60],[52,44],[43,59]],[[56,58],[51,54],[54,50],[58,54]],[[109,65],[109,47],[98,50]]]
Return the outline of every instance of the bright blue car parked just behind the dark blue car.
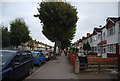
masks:
[[[42,63],[45,63],[45,57],[41,52],[32,52],[34,58],[34,65],[41,66]]]

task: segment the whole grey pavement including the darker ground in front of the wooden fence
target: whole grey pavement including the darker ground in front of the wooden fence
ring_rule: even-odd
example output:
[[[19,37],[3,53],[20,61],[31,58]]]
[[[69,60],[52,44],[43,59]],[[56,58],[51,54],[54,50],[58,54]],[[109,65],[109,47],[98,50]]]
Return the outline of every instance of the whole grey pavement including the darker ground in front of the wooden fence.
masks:
[[[111,81],[111,76],[107,73],[95,72],[75,74],[68,58],[62,54],[58,56],[58,60],[47,62],[26,79],[108,79]]]

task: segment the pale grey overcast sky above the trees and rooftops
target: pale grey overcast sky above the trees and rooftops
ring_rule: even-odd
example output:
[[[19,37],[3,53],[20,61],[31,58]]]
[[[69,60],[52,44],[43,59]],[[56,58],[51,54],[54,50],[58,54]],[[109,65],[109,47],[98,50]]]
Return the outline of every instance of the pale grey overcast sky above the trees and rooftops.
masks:
[[[10,21],[23,18],[29,27],[33,39],[53,45],[43,34],[37,14],[38,2],[1,2],[2,25],[9,27]],[[79,20],[77,31],[72,42],[77,41],[86,33],[92,33],[94,27],[104,26],[107,17],[118,16],[118,2],[71,2],[77,8]]]

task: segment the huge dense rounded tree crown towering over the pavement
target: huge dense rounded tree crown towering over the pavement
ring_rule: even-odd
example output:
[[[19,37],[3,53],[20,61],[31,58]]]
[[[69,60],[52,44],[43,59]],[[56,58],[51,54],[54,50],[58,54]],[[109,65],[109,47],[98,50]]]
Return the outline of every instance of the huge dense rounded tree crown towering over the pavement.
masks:
[[[76,8],[66,2],[41,2],[39,6],[39,14],[34,16],[41,20],[42,33],[55,42],[55,48],[72,40],[78,20]]]

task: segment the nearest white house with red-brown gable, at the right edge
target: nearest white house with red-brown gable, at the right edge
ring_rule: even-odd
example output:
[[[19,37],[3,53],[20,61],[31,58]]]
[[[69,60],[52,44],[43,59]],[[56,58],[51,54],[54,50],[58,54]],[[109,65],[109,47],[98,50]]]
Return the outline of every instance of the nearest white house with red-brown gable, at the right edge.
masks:
[[[108,18],[105,27],[107,29],[107,55],[108,57],[117,57],[120,53],[120,17]]]

